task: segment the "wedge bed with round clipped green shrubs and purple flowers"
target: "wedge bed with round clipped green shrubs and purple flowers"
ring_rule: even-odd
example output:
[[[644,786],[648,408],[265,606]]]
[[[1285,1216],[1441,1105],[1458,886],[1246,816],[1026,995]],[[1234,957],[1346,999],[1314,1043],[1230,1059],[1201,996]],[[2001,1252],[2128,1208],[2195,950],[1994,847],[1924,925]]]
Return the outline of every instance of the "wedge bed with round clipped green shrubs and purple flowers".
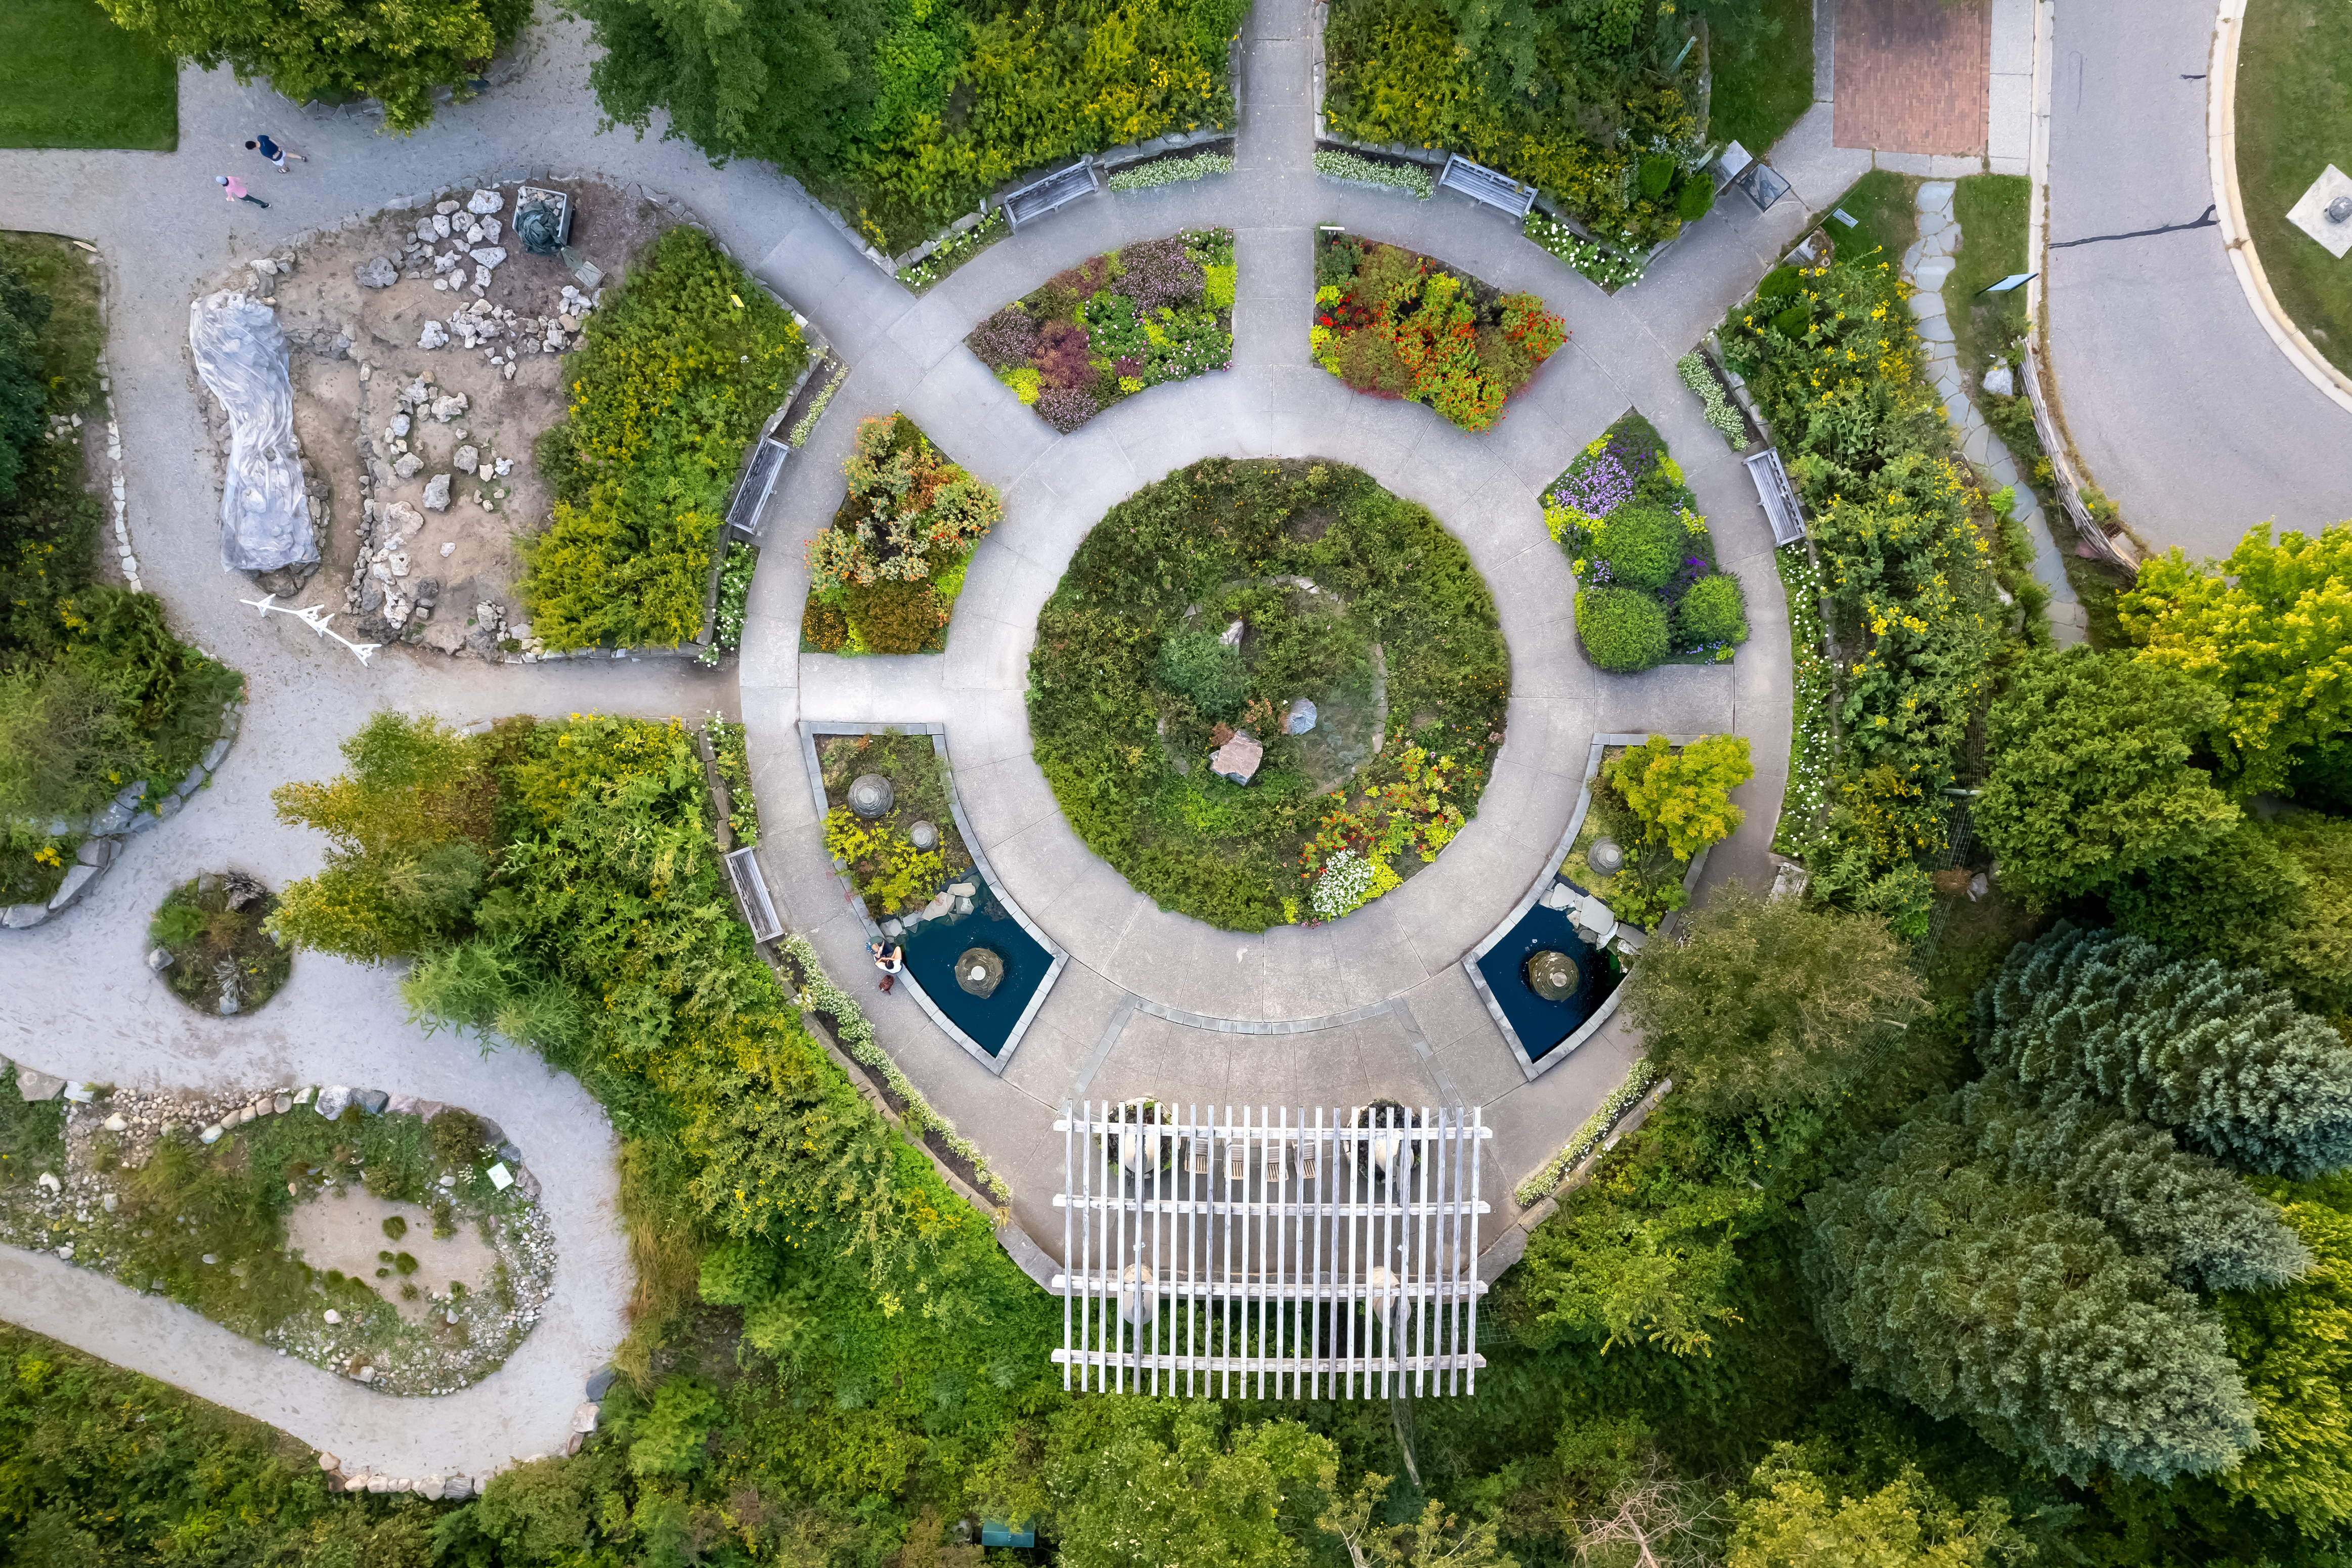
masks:
[[[1724,663],[1748,642],[1740,581],[1715,567],[1682,465],[1625,414],[1543,491],[1543,522],[1576,567],[1576,635],[1613,675]]]

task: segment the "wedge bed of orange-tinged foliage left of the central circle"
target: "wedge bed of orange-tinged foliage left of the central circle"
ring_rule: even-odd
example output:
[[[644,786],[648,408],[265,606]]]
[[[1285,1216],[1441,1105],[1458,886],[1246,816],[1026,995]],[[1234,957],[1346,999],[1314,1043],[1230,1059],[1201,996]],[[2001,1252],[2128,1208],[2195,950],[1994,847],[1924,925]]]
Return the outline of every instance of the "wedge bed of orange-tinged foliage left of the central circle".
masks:
[[[809,541],[800,644],[811,654],[941,654],[971,550],[1004,515],[993,484],[941,456],[906,414],[858,423],[849,494]]]

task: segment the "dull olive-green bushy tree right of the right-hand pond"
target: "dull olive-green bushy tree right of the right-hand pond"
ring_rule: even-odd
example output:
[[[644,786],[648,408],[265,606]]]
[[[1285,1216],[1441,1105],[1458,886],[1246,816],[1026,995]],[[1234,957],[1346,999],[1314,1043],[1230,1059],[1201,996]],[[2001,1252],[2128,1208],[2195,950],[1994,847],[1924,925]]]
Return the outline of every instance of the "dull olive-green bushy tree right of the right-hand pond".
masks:
[[[1686,912],[1679,940],[1653,943],[1625,992],[1677,1095],[1715,1110],[1825,1095],[1924,1006],[1884,919],[1738,882]]]

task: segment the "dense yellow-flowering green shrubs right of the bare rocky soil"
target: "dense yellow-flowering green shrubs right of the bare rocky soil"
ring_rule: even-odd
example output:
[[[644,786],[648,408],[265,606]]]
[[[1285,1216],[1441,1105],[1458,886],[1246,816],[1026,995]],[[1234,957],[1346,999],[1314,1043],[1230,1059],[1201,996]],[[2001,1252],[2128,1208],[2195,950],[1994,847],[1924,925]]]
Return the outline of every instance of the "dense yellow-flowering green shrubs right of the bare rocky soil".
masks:
[[[743,444],[809,350],[793,315],[694,228],[661,235],[564,367],[572,409],[539,440],[555,515],[515,592],[548,649],[677,646],[703,630]]]

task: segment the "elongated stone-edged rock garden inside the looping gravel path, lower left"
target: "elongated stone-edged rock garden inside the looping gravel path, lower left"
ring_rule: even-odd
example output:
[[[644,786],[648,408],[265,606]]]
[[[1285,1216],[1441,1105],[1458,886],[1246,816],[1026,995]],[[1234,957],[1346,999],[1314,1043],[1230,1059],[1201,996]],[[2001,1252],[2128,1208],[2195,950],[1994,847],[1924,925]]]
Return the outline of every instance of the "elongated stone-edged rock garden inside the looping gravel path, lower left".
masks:
[[[539,1321],[536,1194],[494,1121],[414,1095],[0,1070],[0,1239],[388,1394],[477,1382]]]

